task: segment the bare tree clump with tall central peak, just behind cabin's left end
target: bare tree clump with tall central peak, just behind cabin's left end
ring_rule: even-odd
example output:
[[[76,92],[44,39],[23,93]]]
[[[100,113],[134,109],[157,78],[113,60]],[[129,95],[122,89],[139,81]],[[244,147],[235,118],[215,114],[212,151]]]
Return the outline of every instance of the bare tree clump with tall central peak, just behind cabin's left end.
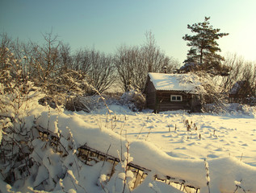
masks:
[[[168,72],[173,72],[179,66],[177,60],[167,57],[157,47],[152,32],[145,36],[146,43],[141,47],[121,46],[115,53],[115,67],[124,91],[128,91],[130,84],[143,91],[149,72],[163,72],[165,66]]]

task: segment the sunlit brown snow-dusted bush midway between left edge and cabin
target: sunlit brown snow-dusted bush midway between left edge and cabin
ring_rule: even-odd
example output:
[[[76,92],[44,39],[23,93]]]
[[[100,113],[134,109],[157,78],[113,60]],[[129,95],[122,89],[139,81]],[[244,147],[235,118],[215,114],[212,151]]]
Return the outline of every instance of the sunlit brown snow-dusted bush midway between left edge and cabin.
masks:
[[[48,104],[52,108],[66,105],[66,109],[89,111],[82,105],[82,96],[96,93],[90,85],[90,78],[84,72],[68,69],[56,78],[46,80],[40,86],[47,95],[40,99],[40,104]]]

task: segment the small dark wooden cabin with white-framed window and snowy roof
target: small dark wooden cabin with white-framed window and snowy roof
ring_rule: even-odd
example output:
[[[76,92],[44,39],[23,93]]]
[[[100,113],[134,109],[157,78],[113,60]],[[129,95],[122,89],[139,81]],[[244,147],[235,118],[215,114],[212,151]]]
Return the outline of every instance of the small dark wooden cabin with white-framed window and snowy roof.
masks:
[[[190,74],[148,74],[145,84],[146,106],[155,113],[169,110],[201,112],[195,88],[200,83]]]

